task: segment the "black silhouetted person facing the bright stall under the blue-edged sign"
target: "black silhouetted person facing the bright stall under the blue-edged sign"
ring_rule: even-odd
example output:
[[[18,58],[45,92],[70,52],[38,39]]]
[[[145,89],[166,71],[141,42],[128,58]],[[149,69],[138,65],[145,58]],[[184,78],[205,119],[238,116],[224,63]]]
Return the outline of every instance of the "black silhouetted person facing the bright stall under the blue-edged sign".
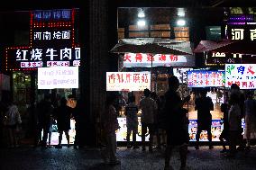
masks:
[[[211,125],[212,125],[212,114],[210,111],[214,111],[214,103],[210,97],[206,96],[207,91],[206,89],[202,89],[200,91],[200,97],[196,100],[196,107],[195,110],[197,111],[197,145],[196,149],[199,149],[199,139],[200,133],[202,130],[207,131],[207,138],[209,140],[209,148],[212,149],[212,132],[211,132]]]

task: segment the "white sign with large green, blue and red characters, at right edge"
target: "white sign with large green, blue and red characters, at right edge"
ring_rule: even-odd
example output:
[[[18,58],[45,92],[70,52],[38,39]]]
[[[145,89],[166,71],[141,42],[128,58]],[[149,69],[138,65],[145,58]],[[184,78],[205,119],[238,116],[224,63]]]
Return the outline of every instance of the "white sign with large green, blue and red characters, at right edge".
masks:
[[[226,64],[225,86],[238,85],[241,89],[256,88],[256,64]]]

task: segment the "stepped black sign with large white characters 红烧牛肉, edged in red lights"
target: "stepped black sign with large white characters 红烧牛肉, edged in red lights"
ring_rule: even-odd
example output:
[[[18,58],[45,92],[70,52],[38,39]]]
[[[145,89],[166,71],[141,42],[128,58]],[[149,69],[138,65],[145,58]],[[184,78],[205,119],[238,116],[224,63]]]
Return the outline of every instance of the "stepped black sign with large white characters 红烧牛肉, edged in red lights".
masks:
[[[61,13],[56,17],[56,13]],[[70,15],[65,15],[64,13]],[[34,70],[38,67],[78,67],[80,48],[75,43],[75,10],[34,11],[31,14],[30,44],[7,48],[6,70]],[[49,16],[57,21],[43,20]],[[36,17],[36,18],[35,18]],[[70,21],[61,21],[66,18]]]

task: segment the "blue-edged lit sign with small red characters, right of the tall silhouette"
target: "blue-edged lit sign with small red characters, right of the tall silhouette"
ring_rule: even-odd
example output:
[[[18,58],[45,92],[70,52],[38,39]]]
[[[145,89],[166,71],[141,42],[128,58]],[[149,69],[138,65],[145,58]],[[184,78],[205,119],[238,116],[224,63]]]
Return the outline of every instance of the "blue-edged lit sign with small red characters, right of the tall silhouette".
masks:
[[[224,71],[193,70],[187,72],[188,87],[224,86]]]

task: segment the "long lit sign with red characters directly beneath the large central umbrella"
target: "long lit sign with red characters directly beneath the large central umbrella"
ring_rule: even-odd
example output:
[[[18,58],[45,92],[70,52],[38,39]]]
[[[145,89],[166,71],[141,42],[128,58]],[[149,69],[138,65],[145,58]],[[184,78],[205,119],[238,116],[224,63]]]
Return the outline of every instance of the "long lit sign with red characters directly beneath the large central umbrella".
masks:
[[[123,67],[194,67],[194,56],[180,56],[173,54],[145,54],[125,53],[123,56]]]

